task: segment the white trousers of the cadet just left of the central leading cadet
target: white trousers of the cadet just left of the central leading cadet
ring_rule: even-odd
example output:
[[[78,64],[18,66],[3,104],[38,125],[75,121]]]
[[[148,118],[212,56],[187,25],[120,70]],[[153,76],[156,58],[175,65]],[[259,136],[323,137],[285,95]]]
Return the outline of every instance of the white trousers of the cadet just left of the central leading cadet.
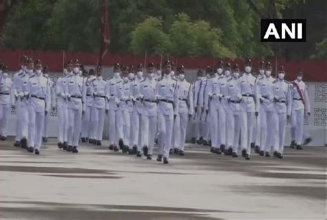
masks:
[[[141,114],[141,145],[137,146],[137,150],[141,151],[141,146],[148,146],[148,154],[153,153],[153,146],[155,146],[155,132],[157,127],[157,114],[147,116]]]

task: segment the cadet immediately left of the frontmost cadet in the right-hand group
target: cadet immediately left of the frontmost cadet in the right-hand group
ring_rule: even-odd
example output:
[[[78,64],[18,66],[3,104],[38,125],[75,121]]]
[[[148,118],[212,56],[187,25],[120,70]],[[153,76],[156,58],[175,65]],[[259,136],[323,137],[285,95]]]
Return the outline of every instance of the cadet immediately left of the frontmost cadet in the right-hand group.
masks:
[[[228,68],[226,69],[228,70]],[[226,72],[226,71],[225,71]],[[239,132],[241,131],[240,124],[240,103],[241,103],[242,95],[241,89],[239,88],[239,65],[237,63],[234,64],[232,77],[228,79],[228,103],[230,105],[230,111],[232,117],[230,118],[230,137],[233,138],[232,141],[232,157],[238,157],[238,149],[239,149]]]

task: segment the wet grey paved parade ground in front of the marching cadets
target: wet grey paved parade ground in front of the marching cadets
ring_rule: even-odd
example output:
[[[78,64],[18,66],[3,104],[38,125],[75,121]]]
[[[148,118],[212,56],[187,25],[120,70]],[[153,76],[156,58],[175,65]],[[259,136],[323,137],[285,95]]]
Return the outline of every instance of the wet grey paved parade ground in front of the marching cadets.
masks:
[[[106,141],[104,141],[106,144]],[[190,146],[169,165],[51,139],[41,155],[0,142],[0,219],[326,219],[326,148],[250,161]]]

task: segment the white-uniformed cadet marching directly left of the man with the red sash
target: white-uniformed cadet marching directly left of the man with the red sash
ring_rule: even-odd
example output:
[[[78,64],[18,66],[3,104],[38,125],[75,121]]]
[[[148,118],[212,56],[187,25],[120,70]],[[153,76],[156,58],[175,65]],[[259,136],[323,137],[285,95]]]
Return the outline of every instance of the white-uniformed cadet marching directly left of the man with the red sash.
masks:
[[[285,132],[286,132],[286,121],[290,119],[290,83],[284,79],[285,70],[284,66],[279,68],[278,79],[274,81],[274,105],[275,105],[275,114],[274,114],[274,123],[277,126],[278,130],[278,148],[274,152],[274,156],[277,158],[283,158],[284,152],[284,141],[285,141]]]

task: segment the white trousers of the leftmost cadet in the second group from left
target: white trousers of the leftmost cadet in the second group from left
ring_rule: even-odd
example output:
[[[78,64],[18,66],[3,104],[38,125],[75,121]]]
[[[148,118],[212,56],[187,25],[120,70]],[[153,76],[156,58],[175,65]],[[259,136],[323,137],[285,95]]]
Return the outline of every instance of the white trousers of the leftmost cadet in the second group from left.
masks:
[[[68,108],[58,106],[58,141],[59,143],[68,142]]]

